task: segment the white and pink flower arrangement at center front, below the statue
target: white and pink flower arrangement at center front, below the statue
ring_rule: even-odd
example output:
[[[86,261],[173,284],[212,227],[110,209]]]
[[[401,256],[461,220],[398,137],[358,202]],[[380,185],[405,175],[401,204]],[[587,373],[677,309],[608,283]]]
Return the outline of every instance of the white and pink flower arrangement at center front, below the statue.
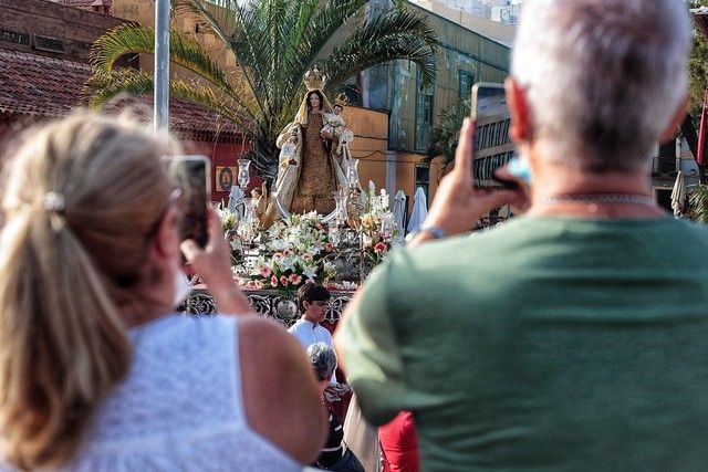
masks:
[[[315,212],[291,214],[277,221],[262,241],[264,250],[249,261],[249,279],[241,281],[251,289],[298,290],[305,283],[326,284],[336,275],[327,231]]]

